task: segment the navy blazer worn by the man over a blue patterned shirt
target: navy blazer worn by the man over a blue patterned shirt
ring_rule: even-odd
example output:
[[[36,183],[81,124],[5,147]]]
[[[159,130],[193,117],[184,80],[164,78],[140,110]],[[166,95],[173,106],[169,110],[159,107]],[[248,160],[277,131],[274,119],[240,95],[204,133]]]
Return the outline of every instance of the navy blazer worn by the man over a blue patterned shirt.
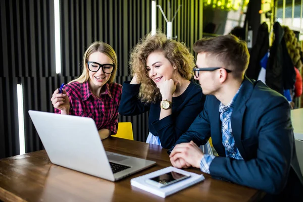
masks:
[[[290,108],[287,100],[261,81],[243,80],[231,115],[232,134],[243,160],[226,158],[222,144],[220,101],[206,98],[204,110],[176,144],[193,140],[205,144],[212,137],[219,155],[210,165],[212,177],[282,195],[301,194]],[[293,192],[293,193],[289,193]],[[294,198],[299,195],[293,195]]]

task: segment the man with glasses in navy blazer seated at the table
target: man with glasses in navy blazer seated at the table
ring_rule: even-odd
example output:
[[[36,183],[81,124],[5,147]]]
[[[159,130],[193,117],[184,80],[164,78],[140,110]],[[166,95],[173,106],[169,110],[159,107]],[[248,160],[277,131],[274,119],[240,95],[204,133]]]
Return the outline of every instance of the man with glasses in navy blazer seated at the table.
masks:
[[[195,79],[207,98],[203,112],[170,150],[172,165],[263,190],[266,201],[301,200],[303,179],[287,100],[244,75],[249,54],[235,36],[200,39],[193,49]],[[210,137],[219,157],[197,146]]]

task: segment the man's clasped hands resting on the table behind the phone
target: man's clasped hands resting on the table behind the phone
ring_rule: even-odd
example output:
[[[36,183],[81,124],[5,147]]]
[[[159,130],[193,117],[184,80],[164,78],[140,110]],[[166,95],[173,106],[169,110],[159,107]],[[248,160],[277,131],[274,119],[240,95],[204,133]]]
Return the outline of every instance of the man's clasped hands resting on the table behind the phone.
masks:
[[[177,144],[170,154],[170,161],[174,167],[200,168],[201,159],[204,157],[201,149],[193,142]]]

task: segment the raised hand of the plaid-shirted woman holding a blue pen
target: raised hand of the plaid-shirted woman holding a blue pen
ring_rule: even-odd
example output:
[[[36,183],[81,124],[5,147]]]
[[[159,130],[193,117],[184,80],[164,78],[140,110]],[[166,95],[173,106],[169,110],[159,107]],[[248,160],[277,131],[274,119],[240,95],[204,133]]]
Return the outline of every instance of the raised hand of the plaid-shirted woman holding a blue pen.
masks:
[[[59,93],[59,89],[55,90],[51,100],[54,108],[61,110],[61,114],[69,114],[69,98],[64,89],[62,90],[62,93]]]

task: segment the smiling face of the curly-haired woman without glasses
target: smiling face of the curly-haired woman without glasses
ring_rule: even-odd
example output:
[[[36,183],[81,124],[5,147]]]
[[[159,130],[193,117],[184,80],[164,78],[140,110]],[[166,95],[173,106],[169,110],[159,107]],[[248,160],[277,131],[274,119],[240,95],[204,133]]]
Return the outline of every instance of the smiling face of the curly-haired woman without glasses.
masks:
[[[148,71],[148,77],[156,83],[158,88],[161,82],[169,79],[174,80],[174,67],[160,51],[148,55],[146,59],[146,69]]]

